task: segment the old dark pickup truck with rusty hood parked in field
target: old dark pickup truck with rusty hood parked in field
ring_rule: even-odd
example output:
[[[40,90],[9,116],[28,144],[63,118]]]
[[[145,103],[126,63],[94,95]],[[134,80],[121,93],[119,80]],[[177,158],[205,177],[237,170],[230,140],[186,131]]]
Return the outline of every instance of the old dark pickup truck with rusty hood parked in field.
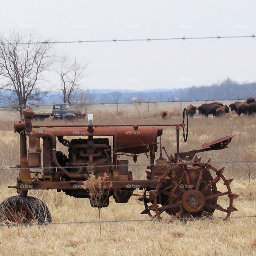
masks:
[[[82,119],[85,114],[82,114],[80,110],[73,109],[69,103],[55,103],[53,104],[52,113],[38,113],[34,115],[34,120],[44,120],[46,118],[53,117],[53,119]]]

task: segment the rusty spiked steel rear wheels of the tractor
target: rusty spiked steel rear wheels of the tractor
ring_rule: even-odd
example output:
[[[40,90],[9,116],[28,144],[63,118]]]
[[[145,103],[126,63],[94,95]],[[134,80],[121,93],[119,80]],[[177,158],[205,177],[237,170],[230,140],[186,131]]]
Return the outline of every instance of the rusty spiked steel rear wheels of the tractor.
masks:
[[[183,169],[182,175],[175,176],[175,171],[180,169]],[[215,178],[210,170],[216,174]],[[227,219],[231,212],[237,211],[233,207],[233,199],[238,195],[231,192],[230,181],[222,175],[223,170],[224,167],[216,169],[210,163],[178,163],[162,177],[155,177],[157,186],[155,190],[148,191],[154,199],[150,205],[145,205],[145,213],[158,219],[162,218],[164,211],[174,219],[202,218],[211,216],[217,210],[226,213],[224,220]],[[163,182],[167,180],[171,180],[171,185],[164,187]],[[221,193],[217,190],[216,184],[219,181],[223,181],[227,191]],[[222,207],[217,201],[225,195],[228,202],[226,207]]]

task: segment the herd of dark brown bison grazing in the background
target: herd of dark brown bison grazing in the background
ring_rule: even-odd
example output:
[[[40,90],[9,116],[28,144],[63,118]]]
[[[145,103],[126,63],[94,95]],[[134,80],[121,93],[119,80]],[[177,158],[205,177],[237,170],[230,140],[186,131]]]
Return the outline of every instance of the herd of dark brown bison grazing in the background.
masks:
[[[213,115],[213,117],[222,117],[226,113],[229,113],[229,110],[234,110],[238,116],[241,114],[252,115],[254,112],[256,112],[256,101],[253,97],[250,97],[245,102],[236,101],[229,104],[229,106],[223,105],[219,102],[204,103],[199,107],[193,106],[192,104],[187,106],[187,111],[190,117],[194,116],[196,110],[198,110],[199,115],[205,117],[208,117],[208,115]],[[167,113],[163,112],[162,118],[165,118],[166,116]]]

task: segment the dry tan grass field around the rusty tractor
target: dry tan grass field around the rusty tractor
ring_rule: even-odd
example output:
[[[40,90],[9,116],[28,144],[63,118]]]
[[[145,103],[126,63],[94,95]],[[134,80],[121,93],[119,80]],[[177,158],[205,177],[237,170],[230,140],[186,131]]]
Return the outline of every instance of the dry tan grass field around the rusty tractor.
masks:
[[[158,107],[155,113],[161,113],[162,110],[162,107]],[[92,109],[94,124],[166,124],[181,120],[181,117],[176,116],[162,120],[158,114],[146,119],[144,110],[141,110],[141,116],[136,111],[133,115],[127,115],[125,111],[125,108],[123,112],[120,109],[120,114],[116,115],[106,109]],[[1,112],[0,160],[1,168],[5,170],[0,173],[0,201],[3,201],[16,195],[15,189],[8,189],[7,186],[15,185],[17,177],[17,171],[8,168],[19,163],[19,136],[13,132],[13,121],[17,121],[18,116]],[[191,133],[187,143],[183,140],[180,143],[181,151],[199,149],[204,142],[237,133],[228,149],[200,155],[202,161],[211,157],[215,167],[225,166],[226,178],[235,178],[231,189],[240,197],[234,200],[238,211],[231,216],[255,215],[256,162],[239,162],[256,160],[255,118],[236,115],[229,118],[195,116],[189,121]],[[52,122],[46,120],[45,123]],[[169,154],[175,152],[175,141],[175,129],[164,127],[162,144]],[[145,164],[147,161],[145,156],[141,156],[136,164]],[[134,178],[145,178],[145,167],[131,166],[130,170],[133,171]],[[223,184],[218,183],[217,187],[219,191],[224,189]],[[29,192],[29,195],[38,197],[47,204],[53,222],[98,221],[97,211],[90,206],[89,199],[72,198],[50,190]],[[139,214],[144,206],[137,198],[131,197],[126,204],[116,204],[110,198],[109,207],[101,210],[102,221],[149,220],[147,215]],[[225,202],[227,198],[221,197],[221,203]],[[224,215],[215,211],[213,216]],[[0,255],[256,255],[255,227],[256,218],[253,217],[234,218],[226,222],[212,219],[187,222],[177,220],[170,224],[167,221],[102,223],[101,235],[98,223],[0,227]]]

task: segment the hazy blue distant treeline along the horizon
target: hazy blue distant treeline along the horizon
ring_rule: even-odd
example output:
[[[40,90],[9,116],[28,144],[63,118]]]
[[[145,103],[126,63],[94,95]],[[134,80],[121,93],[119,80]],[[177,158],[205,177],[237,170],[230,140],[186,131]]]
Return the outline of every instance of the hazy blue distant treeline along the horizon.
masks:
[[[248,97],[256,98],[256,83],[238,83],[226,79],[221,83],[210,86],[192,86],[185,89],[154,89],[154,90],[110,90],[95,89],[84,90],[85,98],[90,103],[112,102],[141,102],[141,101],[199,101],[213,99],[236,99],[244,100]],[[61,92],[49,92],[39,104],[51,104],[61,101]],[[5,103],[5,104],[3,104]],[[76,103],[76,102],[74,102]],[[2,100],[1,105],[8,105]]]

